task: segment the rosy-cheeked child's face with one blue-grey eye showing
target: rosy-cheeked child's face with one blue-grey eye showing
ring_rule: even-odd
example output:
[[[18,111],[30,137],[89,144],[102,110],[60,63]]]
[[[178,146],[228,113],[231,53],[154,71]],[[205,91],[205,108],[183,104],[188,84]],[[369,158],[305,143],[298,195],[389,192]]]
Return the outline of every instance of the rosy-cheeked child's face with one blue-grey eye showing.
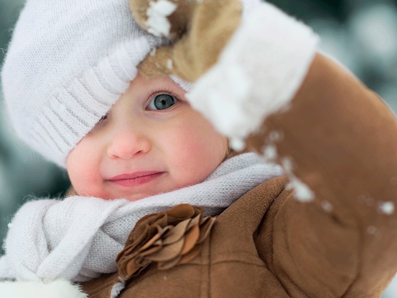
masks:
[[[137,76],[67,156],[75,191],[134,201],[204,180],[227,143],[184,94],[168,77]]]

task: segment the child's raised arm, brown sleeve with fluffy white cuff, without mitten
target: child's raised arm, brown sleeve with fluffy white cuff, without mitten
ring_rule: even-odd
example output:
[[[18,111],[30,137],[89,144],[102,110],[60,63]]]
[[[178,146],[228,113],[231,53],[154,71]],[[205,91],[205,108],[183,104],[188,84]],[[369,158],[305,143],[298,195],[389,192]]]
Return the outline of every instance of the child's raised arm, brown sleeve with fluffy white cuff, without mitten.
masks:
[[[272,252],[265,262],[284,288],[379,296],[397,270],[396,119],[315,47],[310,30],[262,3],[189,99],[232,145],[246,139],[275,157],[295,196],[309,201],[288,198],[265,229],[271,241],[258,243]]]

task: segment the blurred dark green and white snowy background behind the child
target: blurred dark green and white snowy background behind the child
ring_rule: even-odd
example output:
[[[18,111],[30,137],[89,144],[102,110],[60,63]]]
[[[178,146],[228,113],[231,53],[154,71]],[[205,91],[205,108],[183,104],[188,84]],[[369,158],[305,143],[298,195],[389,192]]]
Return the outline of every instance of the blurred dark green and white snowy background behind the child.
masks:
[[[0,64],[23,2],[0,0]],[[320,34],[325,53],[349,68],[397,111],[397,0],[269,2],[310,25]],[[21,203],[31,196],[62,195],[68,186],[65,171],[14,139],[0,90],[0,246],[7,224]],[[397,290],[385,293],[386,297],[397,297]]]

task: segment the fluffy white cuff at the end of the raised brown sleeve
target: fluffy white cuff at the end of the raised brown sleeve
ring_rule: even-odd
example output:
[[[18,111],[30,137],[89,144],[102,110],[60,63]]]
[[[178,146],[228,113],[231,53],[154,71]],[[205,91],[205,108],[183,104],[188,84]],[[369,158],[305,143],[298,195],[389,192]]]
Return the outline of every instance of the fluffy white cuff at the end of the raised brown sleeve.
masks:
[[[214,127],[242,149],[270,114],[287,108],[316,54],[312,29],[269,3],[243,18],[217,64],[187,98]]]

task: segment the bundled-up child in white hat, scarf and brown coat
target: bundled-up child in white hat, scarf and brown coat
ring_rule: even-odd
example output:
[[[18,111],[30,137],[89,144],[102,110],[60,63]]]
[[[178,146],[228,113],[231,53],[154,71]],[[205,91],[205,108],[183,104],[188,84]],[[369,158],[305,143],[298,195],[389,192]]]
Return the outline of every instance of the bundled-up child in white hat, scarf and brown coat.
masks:
[[[397,123],[318,42],[257,0],[26,1],[7,111],[75,194],[15,214],[1,297],[379,297]]]

